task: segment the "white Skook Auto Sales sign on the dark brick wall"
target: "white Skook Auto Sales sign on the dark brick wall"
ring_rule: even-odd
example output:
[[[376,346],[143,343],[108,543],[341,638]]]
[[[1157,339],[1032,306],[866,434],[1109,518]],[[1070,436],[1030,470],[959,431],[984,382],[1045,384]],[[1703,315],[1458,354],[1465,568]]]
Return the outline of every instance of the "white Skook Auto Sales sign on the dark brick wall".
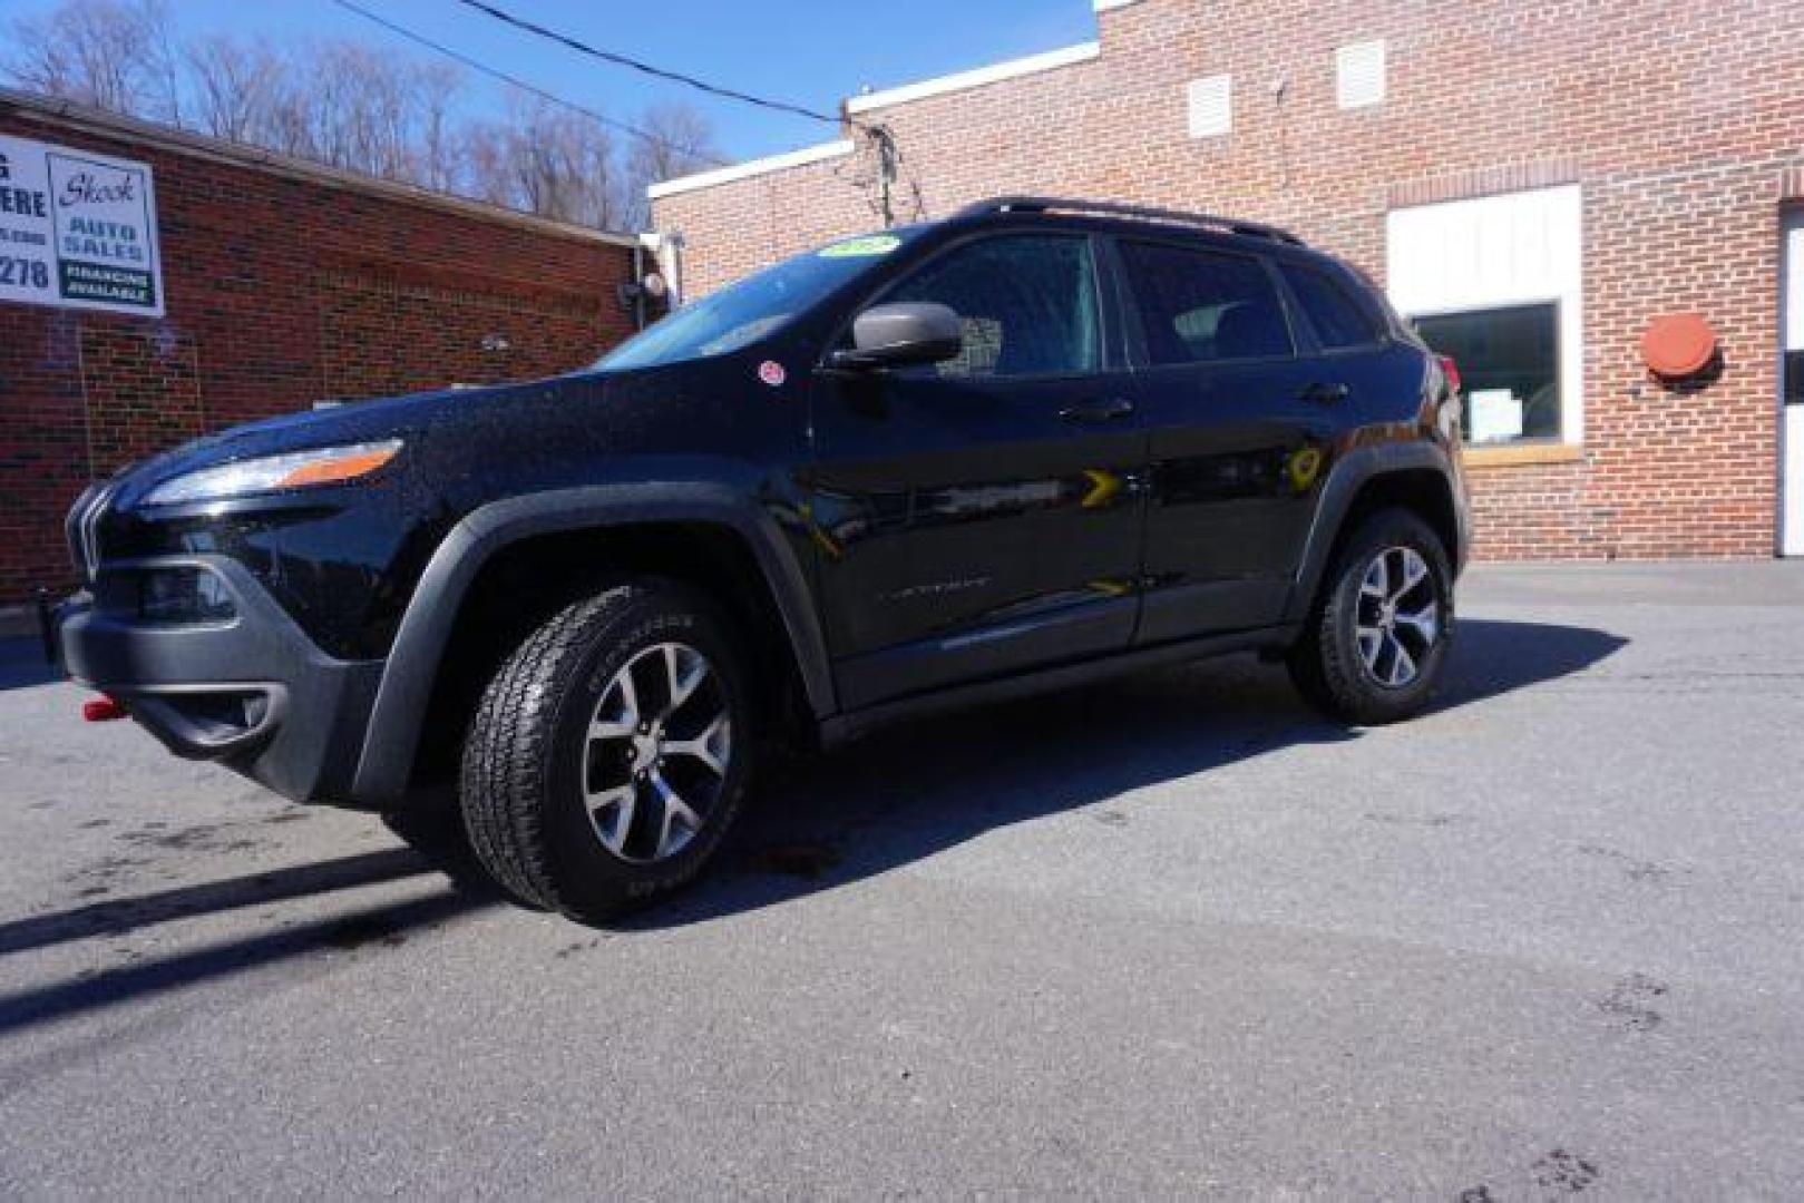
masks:
[[[0,135],[0,301],[162,317],[150,168]]]

